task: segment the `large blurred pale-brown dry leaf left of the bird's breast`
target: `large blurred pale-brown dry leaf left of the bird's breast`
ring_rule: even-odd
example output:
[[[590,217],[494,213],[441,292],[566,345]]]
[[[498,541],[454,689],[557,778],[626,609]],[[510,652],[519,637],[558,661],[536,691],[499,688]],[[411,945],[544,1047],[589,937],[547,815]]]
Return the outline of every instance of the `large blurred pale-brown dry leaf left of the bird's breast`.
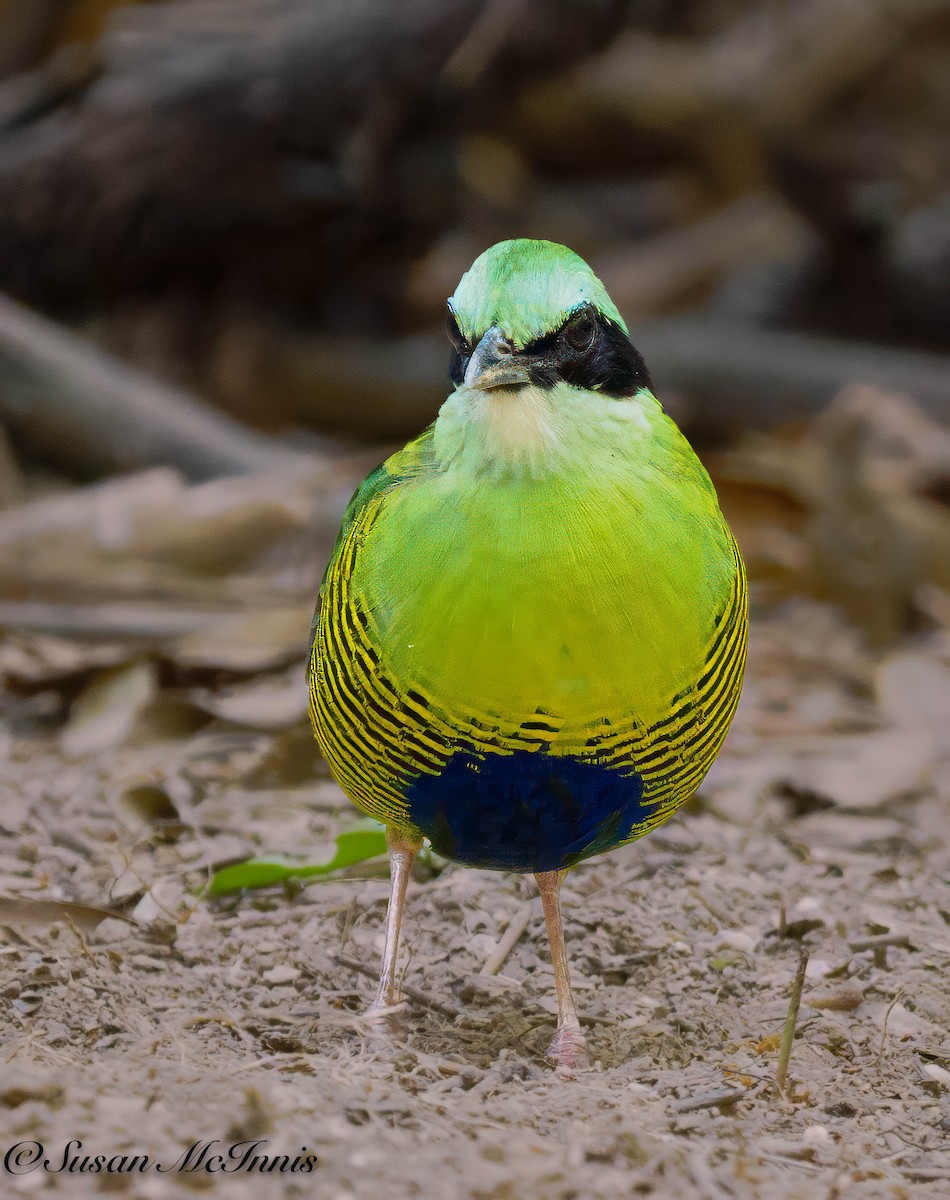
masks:
[[[125,598],[243,608],[267,604],[277,569],[278,604],[288,587],[312,594],[317,563],[329,553],[357,482],[355,467],[327,458],[314,476],[227,478],[193,487],[158,469],[0,512],[0,598],[20,605],[0,613],[0,623],[80,632],[68,611],[60,622],[42,612],[44,600],[64,596],[77,606],[109,607]],[[299,581],[288,580],[288,564]],[[100,636],[109,636],[104,616]],[[200,624],[202,616],[188,624]],[[169,636],[188,624],[173,622]],[[124,636],[119,628],[113,632]]]

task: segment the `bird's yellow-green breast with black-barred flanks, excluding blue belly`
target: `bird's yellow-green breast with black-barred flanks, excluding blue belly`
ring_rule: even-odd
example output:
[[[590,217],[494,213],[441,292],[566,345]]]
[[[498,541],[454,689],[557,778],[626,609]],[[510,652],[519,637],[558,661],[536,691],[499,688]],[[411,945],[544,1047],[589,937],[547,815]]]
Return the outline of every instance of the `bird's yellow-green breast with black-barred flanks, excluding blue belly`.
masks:
[[[641,461],[504,486],[414,469],[361,506],[313,671],[355,803],[405,823],[413,780],[459,750],[636,770],[655,818],[631,836],[695,790],[739,696],[745,578],[705,472],[661,432]]]

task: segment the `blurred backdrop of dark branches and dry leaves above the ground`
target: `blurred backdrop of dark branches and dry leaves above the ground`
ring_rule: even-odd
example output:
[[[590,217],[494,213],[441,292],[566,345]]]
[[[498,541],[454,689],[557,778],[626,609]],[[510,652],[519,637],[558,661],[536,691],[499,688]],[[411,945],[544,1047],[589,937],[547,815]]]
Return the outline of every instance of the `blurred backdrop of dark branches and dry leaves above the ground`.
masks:
[[[849,695],[946,661],[949,55],[946,0],[0,0],[8,742],[317,769],[341,512],[510,236],[603,278],[756,614],[829,605]]]

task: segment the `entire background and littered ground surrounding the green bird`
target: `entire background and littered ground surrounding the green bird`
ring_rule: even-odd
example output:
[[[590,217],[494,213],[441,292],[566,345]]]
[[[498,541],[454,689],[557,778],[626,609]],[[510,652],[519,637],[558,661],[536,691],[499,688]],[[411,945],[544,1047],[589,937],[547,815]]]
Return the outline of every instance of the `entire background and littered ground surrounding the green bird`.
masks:
[[[417,859],[420,1032],[353,1024],[386,865],[306,712],[344,505],[512,236],[602,277],[751,577],[701,792],[565,886],[566,1091],[524,877]],[[5,1128],[276,1129],[341,1198],[936,1195],[949,718],[950,0],[0,0]]]

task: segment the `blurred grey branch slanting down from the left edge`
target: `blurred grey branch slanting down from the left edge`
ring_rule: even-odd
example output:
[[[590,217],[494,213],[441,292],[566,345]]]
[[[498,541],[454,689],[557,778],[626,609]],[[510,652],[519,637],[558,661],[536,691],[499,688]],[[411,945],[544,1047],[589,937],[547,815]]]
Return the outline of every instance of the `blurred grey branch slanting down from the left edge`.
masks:
[[[170,463],[190,479],[313,470],[187,392],[158,383],[0,296],[0,418],[31,449],[83,472]]]

